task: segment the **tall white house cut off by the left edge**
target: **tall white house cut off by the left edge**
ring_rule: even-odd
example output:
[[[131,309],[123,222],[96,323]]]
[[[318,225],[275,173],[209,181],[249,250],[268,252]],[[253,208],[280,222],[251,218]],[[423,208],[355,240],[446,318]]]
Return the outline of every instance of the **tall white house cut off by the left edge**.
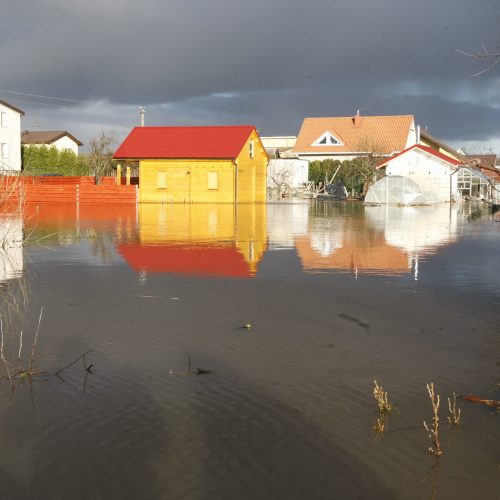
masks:
[[[21,170],[21,116],[24,111],[0,101],[0,172]]]

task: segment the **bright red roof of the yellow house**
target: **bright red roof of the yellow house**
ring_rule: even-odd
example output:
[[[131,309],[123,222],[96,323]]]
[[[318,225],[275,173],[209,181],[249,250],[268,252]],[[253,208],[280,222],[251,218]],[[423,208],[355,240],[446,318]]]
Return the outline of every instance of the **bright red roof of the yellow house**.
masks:
[[[135,127],[114,158],[235,159],[255,127]]]

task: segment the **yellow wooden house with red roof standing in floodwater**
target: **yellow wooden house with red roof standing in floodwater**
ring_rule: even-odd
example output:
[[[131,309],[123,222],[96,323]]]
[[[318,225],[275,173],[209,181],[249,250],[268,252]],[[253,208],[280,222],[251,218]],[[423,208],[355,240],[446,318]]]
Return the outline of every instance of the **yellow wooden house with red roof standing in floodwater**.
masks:
[[[266,201],[268,156],[255,127],[135,127],[114,158],[139,163],[141,203]]]

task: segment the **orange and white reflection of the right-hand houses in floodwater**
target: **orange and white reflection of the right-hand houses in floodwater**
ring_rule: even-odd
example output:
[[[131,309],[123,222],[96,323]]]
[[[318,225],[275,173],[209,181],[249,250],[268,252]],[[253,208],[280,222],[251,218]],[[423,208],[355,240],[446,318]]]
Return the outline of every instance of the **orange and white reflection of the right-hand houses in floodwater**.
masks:
[[[306,234],[295,238],[307,272],[350,270],[418,277],[419,257],[456,238],[457,209],[433,207],[313,206]]]

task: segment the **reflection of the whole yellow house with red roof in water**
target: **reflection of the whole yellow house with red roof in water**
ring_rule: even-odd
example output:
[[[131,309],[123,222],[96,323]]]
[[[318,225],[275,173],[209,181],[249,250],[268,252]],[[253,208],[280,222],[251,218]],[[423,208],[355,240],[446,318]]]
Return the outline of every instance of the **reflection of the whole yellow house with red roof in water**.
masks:
[[[118,251],[135,271],[251,277],[266,247],[264,204],[143,204]]]

